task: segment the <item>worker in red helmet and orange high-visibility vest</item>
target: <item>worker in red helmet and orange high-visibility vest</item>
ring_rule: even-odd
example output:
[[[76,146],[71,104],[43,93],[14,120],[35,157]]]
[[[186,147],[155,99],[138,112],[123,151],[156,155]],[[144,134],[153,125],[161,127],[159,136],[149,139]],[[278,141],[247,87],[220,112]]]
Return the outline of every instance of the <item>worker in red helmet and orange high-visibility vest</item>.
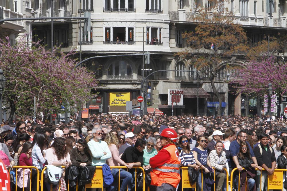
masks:
[[[175,191],[180,182],[179,151],[173,143],[178,139],[177,133],[167,128],[160,136],[163,148],[150,158],[150,166],[153,168],[150,172],[151,184],[156,186],[157,191]]]

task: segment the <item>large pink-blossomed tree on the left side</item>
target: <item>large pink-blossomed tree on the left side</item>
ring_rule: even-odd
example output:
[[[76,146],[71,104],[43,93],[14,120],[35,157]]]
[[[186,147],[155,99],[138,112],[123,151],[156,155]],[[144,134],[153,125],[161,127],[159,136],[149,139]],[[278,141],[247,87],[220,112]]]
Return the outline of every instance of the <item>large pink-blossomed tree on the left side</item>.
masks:
[[[65,54],[55,48],[51,54],[40,42],[26,45],[20,40],[13,47],[8,39],[0,39],[0,68],[7,80],[3,100],[11,110],[9,122],[14,114],[32,116],[34,97],[37,115],[42,112],[45,119],[49,113],[59,112],[64,103],[79,107],[93,96],[94,74],[85,67],[74,69],[75,52]]]

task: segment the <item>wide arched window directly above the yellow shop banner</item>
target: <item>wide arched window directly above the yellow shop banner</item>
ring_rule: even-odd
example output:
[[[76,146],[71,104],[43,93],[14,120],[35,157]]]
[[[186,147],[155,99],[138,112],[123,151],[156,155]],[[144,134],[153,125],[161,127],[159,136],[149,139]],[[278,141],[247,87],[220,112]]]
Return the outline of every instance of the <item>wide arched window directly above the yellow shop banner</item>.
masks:
[[[131,66],[123,61],[117,60],[108,67],[108,79],[133,79]]]

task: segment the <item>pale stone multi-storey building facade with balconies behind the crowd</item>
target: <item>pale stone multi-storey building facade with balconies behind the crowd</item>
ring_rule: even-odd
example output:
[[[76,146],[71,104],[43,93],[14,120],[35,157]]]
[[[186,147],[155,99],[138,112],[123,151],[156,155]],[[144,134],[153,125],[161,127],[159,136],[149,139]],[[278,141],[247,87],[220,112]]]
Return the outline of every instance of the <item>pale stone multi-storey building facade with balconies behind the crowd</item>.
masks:
[[[34,17],[84,16],[90,13],[91,21],[85,29],[84,21],[55,20],[53,22],[54,45],[61,45],[61,51],[82,50],[82,59],[94,56],[119,54],[142,54],[150,52],[150,64],[144,64],[144,76],[157,70],[148,78],[148,92],[152,95],[151,107],[166,114],[195,115],[197,97],[199,114],[215,115],[218,99],[205,76],[202,83],[193,83],[196,68],[193,59],[175,58],[174,54],[189,47],[181,34],[196,27],[194,15],[199,7],[209,11],[212,1],[208,0],[32,0]],[[286,33],[285,1],[240,0],[224,6],[232,10],[234,22],[241,24],[254,44],[267,34]],[[272,17],[269,15],[271,7]],[[53,10],[53,11],[52,11]],[[80,26],[81,25],[81,26]],[[43,39],[51,48],[51,20],[32,22],[34,41]],[[81,36],[80,36],[81,31]],[[81,47],[80,43],[82,42]],[[94,58],[84,64],[99,80],[98,96],[87,103],[92,113],[102,108],[103,113],[125,111],[125,101],[137,99],[140,95],[142,56],[117,56]],[[244,111],[243,97],[232,93],[229,76],[236,69],[226,65],[243,65],[241,58],[231,58],[222,63],[218,71],[216,87],[223,99],[223,114],[238,115]],[[181,71],[184,70],[184,71]],[[183,90],[183,105],[168,105],[168,90]],[[231,92],[230,92],[231,91]],[[124,99],[125,98],[125,99]],[[149,103],[149,102],[148,102]]]

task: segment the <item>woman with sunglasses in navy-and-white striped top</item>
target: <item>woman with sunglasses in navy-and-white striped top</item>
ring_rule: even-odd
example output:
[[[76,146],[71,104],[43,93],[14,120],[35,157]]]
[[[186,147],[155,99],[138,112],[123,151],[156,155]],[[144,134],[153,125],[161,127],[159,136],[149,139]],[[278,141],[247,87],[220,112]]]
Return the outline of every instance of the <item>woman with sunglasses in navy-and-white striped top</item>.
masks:
[[[179,157],[181,160],[182,166],[192,167],[195,170],[199,169],[199,166],[196,164],[192,151],[189,147],[189,141],[187,136],[182,135],[179,138],[179,146],[181,147],[181,152],[179,153]]]

